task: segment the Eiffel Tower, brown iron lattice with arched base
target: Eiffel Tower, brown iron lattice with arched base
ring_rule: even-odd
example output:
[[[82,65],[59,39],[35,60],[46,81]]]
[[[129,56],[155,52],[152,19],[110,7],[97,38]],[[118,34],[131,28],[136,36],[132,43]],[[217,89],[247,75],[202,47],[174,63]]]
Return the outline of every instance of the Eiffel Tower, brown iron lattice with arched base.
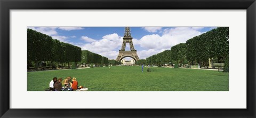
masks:
[[[125,50],[126,43],[130,44],[130,50]],[[125,27],[122,48],[121,50],[119,50],[119,54],[116,58],[116,61],[121,61],[125,57],[131,57],[136,62],[140,60],[140,58],[137,55],[137,50],[135,50],[133,47],[131,29],[129,27]]]

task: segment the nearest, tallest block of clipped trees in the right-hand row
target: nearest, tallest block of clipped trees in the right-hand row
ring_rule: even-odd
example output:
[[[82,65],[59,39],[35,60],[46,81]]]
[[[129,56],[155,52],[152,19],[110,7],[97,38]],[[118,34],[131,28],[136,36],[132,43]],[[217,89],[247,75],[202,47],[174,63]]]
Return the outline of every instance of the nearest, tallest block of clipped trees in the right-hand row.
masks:
[[[187,58],[204,65],[209,59],[227,59],[229,51],[229,30],[227,27],[220,27],[209,32],[189,39],[187,44]]]

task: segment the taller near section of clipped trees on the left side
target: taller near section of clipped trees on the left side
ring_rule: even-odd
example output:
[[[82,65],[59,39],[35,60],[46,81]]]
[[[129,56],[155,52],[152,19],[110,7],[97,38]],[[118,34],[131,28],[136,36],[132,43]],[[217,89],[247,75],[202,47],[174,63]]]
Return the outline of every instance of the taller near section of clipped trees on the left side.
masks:
[[[37,70],[41,62],[49,62],[50,68],[55,66],[53,63],[57,63],[60,68],[63,67],[63,63],[68,63],[70,68],[71,62],[81,61],[80,47],[52,39],[49,35],[32,29],[27,29],[27,44],[28,69],[35,66]]]

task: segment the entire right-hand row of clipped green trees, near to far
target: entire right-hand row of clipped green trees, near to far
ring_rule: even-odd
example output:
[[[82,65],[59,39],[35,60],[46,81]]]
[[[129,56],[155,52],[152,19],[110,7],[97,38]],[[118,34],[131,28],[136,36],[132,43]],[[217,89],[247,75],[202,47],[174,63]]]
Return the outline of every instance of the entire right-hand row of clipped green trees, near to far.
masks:
[[[228,65],[229,28],[219,27],[194,38],[179,43],[171,50],[165,50],[146,58],[146,63],[163,65],[163,63],[177,63],[199,65],[200,67],[212,65],[212,61],[225,62]]]

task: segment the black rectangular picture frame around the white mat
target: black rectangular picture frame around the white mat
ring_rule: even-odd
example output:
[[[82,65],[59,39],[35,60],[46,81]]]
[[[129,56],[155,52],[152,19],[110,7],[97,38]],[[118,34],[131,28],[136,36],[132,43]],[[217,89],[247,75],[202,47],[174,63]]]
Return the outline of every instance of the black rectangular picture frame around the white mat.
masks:
[[[0,0],[1,117],[255,117],[255,0]],[[246,10],[246,109],[13,109],[10,108],[10,10]],[[234,103],[235,104],[235,103]],[[65,114],[64,114],[65,113]]]

